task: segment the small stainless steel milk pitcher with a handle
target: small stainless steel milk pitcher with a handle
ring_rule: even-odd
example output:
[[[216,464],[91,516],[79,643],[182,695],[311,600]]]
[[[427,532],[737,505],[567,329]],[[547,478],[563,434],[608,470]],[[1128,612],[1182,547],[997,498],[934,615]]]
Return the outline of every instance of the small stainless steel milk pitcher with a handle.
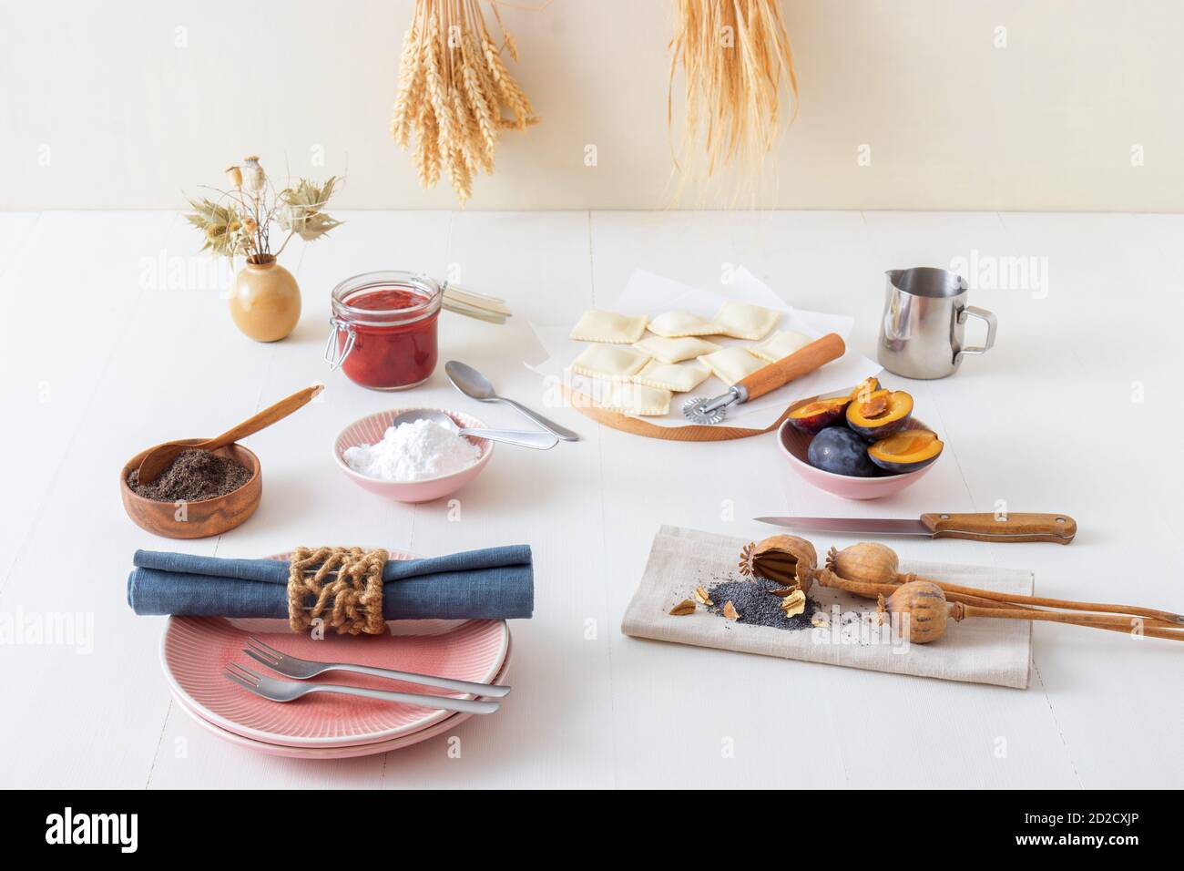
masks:
[[[958,273],[932,267],[889,269],[884,315],[876,359],[905,378],[945,378],[966,354],[984,354],[995,345],[995,315],[966,305],[970,289]],[[966,319],[986,321],[982,346],[964,347]]]

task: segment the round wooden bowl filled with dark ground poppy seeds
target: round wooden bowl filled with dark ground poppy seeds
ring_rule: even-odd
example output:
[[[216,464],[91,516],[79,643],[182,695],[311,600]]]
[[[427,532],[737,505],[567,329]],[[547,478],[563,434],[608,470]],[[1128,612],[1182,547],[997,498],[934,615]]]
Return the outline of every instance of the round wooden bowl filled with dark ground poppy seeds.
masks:
[[[141,529],[166,538],[206,538],[239,526],[259,507],[259,457],[242,444],[186,450],[155,481],[141,485],[135,473],[149,450],[141,450],[120,472],[123,508]]]

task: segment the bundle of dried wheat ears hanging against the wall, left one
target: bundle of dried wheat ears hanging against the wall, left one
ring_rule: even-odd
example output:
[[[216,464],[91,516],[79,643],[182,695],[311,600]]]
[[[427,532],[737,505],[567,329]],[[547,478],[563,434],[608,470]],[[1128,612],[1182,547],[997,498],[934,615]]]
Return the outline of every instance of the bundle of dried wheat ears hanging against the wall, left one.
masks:
[[[435,186],[446,169],[462,204],[472,194],[472,177],[494,171],[500,132],[539,120],[506,69],[502,50],[517,60],[517,47],[496,4],[490,8],[501,43],[490,36],[480,0],[417,0],[399,59],[391,136],[407,148],[414,128],[419,184]]]

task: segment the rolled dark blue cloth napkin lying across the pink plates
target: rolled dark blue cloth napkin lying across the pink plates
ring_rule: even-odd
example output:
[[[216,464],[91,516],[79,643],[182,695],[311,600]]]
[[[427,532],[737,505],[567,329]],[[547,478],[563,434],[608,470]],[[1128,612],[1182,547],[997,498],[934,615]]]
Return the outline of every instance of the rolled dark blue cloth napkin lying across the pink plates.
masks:
[[[288,617],[288,563],[137,550],[128,576],[136,614]],[[534,611],[525,544],[391,559],[382,569],[386,620],[509,620]]]

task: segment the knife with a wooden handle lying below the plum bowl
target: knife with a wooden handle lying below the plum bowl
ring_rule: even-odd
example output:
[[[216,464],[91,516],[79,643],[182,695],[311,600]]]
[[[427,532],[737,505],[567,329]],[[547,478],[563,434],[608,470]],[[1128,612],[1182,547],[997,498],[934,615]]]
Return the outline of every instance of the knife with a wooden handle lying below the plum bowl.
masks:
[[[758,517],[760,523],[811,532],[860,536],[925,536],[976,542],[1055,542],[1068,544],[1077,521],[1068,514],[921,514],[916,520],[870,517]]]

